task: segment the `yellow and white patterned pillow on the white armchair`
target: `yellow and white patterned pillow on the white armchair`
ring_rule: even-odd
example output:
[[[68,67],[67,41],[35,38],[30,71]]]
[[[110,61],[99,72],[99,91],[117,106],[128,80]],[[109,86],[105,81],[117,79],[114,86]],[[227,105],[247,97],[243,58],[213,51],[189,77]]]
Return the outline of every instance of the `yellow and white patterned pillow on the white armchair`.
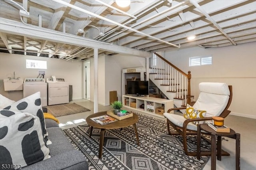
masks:
[[[205,115],[206,115],[206,111],[198,110],[198,109],[190,106],[189,104],[187,104],[186,112],[184,113],[183,116],[186,119],[195,119],[195,118],[203,118],[203,117],[205,117]],[[192,123],[197,125],[197,124],[203,124],[204,121],[195,121]]]

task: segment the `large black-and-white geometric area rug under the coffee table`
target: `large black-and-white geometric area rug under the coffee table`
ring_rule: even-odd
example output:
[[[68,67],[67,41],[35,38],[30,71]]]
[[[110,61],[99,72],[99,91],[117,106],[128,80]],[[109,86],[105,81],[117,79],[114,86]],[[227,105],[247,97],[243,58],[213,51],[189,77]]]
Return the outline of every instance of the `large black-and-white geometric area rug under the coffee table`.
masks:
[[[102,158],[98,158],[100,129],[94,128],[89,138],[89,126],[64,129],[63,132],[88,160],[90,170],[201,170],[209,156],[187,156],[183,151],[182,137],[169,135],[166,121],[140,115],[136,124],[140,146],[137,145],[134,127],[106,130]],[[188,139],[190,150],[196,151],[196,137]],[[202,150],[210,144],[202,140]]]

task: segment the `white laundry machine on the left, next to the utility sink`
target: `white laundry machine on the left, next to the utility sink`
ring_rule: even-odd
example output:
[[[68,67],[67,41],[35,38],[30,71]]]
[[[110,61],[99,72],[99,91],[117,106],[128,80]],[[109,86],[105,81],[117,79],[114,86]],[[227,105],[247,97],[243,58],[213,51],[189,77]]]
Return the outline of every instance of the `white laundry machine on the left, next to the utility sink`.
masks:
[[[47,106],[47,83],[43,78],[26,78],[23,81],[23,97],[40,91],[41,105]]]

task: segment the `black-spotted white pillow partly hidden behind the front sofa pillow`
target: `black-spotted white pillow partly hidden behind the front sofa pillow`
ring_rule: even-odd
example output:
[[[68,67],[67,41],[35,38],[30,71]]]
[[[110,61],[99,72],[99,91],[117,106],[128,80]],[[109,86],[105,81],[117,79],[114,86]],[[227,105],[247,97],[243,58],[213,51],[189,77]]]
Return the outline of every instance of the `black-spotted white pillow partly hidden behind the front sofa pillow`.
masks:
[[[16,101],[12,105],[7,106],[4,109],[10,110],[10,111],[26,112],[39,117],[42,125],[44,139],[46,140],[47,145],[52,144],[52,142],[48,139],[48,133],[46,131],[46,126],[44,122],[44,113],[42,111],[42,105],[41,105],[40,92],[36,92],[33,95],[30,95],[19,101]]]

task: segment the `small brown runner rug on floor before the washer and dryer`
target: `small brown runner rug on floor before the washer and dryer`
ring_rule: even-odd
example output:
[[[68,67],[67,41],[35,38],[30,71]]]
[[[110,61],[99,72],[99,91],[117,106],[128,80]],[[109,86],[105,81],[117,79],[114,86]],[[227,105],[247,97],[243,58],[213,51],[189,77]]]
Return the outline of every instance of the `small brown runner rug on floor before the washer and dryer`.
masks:
[[[60,117],[65,115],[72,115],[76,113],[87,112],[90,110],[76,103],[68,103],[68,104],[47,106],[47,111],[48,113],[54,115],[54,117]]]

